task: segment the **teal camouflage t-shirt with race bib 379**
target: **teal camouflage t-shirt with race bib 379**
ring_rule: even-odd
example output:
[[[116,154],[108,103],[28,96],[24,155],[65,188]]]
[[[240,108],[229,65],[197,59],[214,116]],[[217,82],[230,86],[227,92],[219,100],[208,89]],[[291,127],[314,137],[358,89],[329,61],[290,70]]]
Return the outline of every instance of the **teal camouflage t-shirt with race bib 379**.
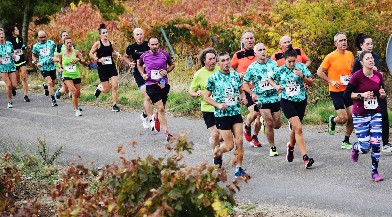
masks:
[[[240,92],[238,91],[241,86],[242,81],[240,75],[233,71],[230,71],[229,74],[217,71],[208,78],[205,89],[212,92],[214,101],[228,105],[225,110],[214,108],[215,117],[241,114]]]

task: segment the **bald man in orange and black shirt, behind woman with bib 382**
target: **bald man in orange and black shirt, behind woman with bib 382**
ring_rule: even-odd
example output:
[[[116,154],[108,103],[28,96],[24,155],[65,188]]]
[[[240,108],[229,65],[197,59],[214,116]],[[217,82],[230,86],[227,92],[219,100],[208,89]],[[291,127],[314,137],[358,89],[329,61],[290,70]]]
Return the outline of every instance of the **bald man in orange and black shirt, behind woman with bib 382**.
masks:
[[[275,60],[278,63],[278,66],[281,67],[282,65],[285,65],[285,58],[283,58],[283,54],[287,49],[289,49],[289,45],[291,44],[291,38],[287,35],[283,36],[280,38],[279,41],[279,46],[281,50],[278,52],[275,52],[271,56],[271,60]],[[294,51],[297,52],[297,63],[303,63],[306,65],[306,67],[309,68],[310,64],[312,64],[312,61],[309,60],[308,56],[306,56],[305,52],[299,47],[293,47]]]

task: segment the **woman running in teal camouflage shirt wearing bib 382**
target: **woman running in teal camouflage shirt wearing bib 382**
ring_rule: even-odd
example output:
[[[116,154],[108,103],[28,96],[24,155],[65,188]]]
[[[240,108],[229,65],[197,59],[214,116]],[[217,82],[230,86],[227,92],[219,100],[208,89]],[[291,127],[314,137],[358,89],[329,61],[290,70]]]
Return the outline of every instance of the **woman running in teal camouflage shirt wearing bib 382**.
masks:
[[[305,168],[309,168],[314,163],[314,159],[308,157],[306,153],[305,139],[302,132],[302,119],[306,107],[306,92],[303,82],[313,86],[312,75],[303,63],[296,63],[297,52],[289,45],[285,52],[285,65],[279,67],[269,78],[269,84],[280,93],[280,104],[286,118],[292,125],[290,141],[287,143],[286,160],[292,162],[294,159],[294,145],[297,143],[298,149],[303,158]],[[277,85],[274,80],[278,81]]]

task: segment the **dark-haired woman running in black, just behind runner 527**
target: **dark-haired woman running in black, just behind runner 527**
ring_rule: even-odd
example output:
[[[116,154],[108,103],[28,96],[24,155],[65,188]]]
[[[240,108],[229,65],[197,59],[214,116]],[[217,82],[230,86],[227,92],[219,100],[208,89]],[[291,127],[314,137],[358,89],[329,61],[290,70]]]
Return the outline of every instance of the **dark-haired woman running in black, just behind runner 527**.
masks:
[[[23,38],[19,36],[19,29],[15,25],[11,25],[10,27],[8,27],[8,31],[5,33],[5,37],[8,37],[7,41],[12,43],[14,50],[17,52],[16,55],[19,56],[19,60],[15,61],[16,84],[20,82],[20,75],[19,75],[20,72],[20,74],[22,74],[24,101],[29,102],[30,99],[27,96],[27,92],[29,90],[29,83],[27,83],[26,59],[23,55],[23,50],[30,49],[31,46],[30,45],[25,46],[23,44]],[[13,96],[16,95],[15,89],[12,90],[12,95]]]

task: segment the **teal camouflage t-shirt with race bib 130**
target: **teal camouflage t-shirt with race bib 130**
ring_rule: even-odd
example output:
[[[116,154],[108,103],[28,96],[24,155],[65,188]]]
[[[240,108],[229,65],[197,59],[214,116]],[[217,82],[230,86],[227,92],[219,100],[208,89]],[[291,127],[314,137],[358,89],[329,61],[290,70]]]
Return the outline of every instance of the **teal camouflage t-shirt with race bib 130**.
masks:
[[[52,63],[50,58],[53,57],[56,50],[56,44],[51,40],[45,43],[38,42],[33,46],[33,54],[38,54],[39,62],[42,63],[41,71],[51,71],[56,69],[56,63]]]

